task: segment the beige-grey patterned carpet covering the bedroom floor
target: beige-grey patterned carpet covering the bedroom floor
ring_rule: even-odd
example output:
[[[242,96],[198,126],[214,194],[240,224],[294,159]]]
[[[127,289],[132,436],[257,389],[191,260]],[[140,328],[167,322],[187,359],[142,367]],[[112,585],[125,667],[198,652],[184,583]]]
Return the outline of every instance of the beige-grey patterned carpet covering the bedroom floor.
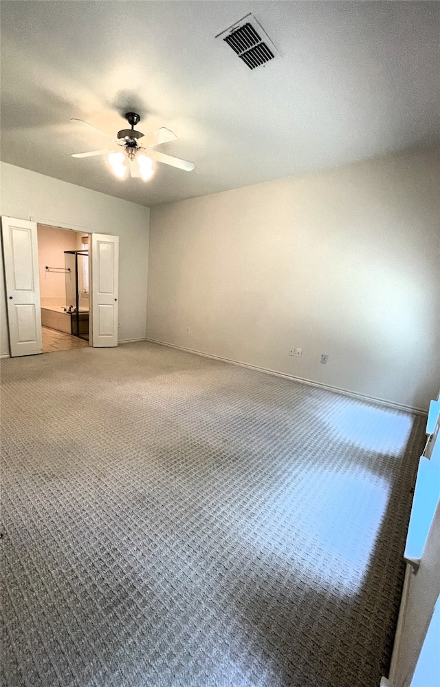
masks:
[[[146,343],[1,368],[3,686],[379,686],[423,418]]]

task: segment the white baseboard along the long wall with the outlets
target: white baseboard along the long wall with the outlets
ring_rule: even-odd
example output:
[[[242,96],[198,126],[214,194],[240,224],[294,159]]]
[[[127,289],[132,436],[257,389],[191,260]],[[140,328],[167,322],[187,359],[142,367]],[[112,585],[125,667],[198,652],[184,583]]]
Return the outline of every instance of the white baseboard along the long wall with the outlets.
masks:
[[[341,389],[337,386],[330,386],[329,384],[322,384],[318,381],[313,381],[312,379],[305,379],[304,377],[296,377],[294,374],[287,374],[285,372],[277,372],[276,370],[270,370],[268,368],[260,368],[258,365],[250,365],[249,363],[242,363],[239,360],[231,360],[229,358],[222,358],[219,355],[211,355],[210,353],[203,353],[201,350],[195,350],[193,348],[185,348],[185,346],[176,346],[176,344],[168,344],[168,341],[157,341],[157,339],[140,339],[140,341],[150,341],[151,344],[160,344],[161,346],[168,346],[168,348],[177,348],[178,350],[184,350],[187,353],[194,353],[195,355],[201,355],[203,358],[211,358],[213,360],[220,360],[223,363],[230,363],[230,365],[238,365],[241,368],[248,368],[250,370],[258,370],[258,372],[265,372],[266,374],[273,374],[274,377],[283,377],[283,379],[292,379],[292,381],[298,381],[301,384],[306,384],[307,386],[315,386],[318,389],[325,389],[327,391],[333,391],[336,394],[342,394],[342,396],[349,396],[352,399],[358,399],[360,401],[370,401],[371,403],[380,403],[385,405],[386,408],[394,408],[395,410],[405,410],[406,412],[416,413],[417,415],[428,415],[426,410],[423,408],[415,408],[411,405],[403,405],[401,403],[393,403],[392,401],[386,401],[386,399],[377,399],[373,396],[365,396],[364,394],[357,394],[354,391],[349,391],[347,389]]]

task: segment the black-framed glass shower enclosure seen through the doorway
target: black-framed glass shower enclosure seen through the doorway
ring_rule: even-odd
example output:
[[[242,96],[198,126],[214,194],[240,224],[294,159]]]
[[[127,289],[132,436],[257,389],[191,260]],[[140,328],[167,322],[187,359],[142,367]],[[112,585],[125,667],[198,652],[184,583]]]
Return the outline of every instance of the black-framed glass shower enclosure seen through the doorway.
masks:
[[[72,335],[89,340],[89,251],[65,251],[66,313]]]

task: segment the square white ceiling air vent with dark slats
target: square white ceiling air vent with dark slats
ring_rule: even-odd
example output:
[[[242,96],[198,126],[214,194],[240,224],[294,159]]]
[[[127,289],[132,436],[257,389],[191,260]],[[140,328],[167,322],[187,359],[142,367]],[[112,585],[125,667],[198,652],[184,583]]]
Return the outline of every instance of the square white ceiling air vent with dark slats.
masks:
[[[264,65],[277,54],[276,47],[252,14],[246,14],[215,37],[220,36],[250,69]]]

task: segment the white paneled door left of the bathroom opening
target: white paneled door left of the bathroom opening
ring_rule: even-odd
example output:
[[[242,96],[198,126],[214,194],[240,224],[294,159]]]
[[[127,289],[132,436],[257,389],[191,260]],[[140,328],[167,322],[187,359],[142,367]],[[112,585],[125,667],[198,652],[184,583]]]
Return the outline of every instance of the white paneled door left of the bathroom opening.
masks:
[[[1,218],[11,356],[42,353],[36,222]]]

